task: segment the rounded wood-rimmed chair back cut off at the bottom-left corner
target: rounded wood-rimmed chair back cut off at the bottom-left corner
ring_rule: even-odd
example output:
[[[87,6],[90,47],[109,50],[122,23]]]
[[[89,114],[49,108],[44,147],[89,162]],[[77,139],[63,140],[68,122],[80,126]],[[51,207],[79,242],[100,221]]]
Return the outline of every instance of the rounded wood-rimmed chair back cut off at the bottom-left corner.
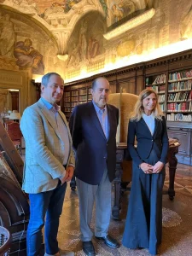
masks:
[[[0,226],[0,255],[8,256],[11,245],[11,235],[9,230]]]

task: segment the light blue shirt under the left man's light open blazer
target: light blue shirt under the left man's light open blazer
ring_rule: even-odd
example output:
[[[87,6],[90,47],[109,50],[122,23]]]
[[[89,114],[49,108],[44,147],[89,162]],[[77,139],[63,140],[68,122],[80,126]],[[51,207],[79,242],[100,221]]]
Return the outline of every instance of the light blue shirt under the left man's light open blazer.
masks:
[[[55,119],[55,123],[57,125],[59,134],[61,136],[61,140],[64,143],[64,160],[63,160],[63,165],[67,165],[67,160],[69,157],[69,152],[70,152],[70,143],[69,143],[69,137],[68,137],[68,132],[67,132],[67,127],[61,118],[61,115],[59,114],[58,110],[60,107],[58,105],[53,106],[49,102],[47,102],[44,98],[42,98],[42,101],[44,102],[44,105],[46,108],[49,109],[50,115]]]

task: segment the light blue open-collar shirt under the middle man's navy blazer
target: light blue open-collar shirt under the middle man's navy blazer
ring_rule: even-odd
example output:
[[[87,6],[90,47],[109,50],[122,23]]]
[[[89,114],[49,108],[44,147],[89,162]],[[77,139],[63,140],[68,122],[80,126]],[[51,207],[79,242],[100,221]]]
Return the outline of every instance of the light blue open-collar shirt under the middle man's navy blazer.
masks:
[[[101,109],[99,108],[94,101],[93,106],[96,110],[97,117],[100,121],[100,124],[102,125],[102,131],[105,134],[105,137],[108,139],[108,133],[109,133],[109,124],[108,124],[108,108],[107,105],[105,108]]]

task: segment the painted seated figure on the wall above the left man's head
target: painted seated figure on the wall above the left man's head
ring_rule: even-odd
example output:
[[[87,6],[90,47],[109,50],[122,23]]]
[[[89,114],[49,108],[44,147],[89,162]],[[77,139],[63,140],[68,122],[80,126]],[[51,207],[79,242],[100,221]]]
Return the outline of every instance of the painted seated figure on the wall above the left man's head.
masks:
[[[32,73],[44,74],[44,57],[32,47],[30,38],[17,42],[14,54],[20,69],[32,68]]]

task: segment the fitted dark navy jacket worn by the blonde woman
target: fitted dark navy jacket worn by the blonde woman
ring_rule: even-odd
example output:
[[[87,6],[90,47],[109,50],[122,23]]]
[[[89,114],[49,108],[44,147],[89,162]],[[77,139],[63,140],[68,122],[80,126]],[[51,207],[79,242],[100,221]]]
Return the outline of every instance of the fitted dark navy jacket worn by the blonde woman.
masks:
[[[166,131],[166,119],[154,119],[154,134],[148,129],[144,119],[129,122],[127,145],[132,160],[137,165],[143,163],[143,159],[148,158],[152,148],[154,148],[159,160],[166,164],[166,156],[169,148],[169,142]],[[135,136],[137,137],[137,148],[134,147]]]

